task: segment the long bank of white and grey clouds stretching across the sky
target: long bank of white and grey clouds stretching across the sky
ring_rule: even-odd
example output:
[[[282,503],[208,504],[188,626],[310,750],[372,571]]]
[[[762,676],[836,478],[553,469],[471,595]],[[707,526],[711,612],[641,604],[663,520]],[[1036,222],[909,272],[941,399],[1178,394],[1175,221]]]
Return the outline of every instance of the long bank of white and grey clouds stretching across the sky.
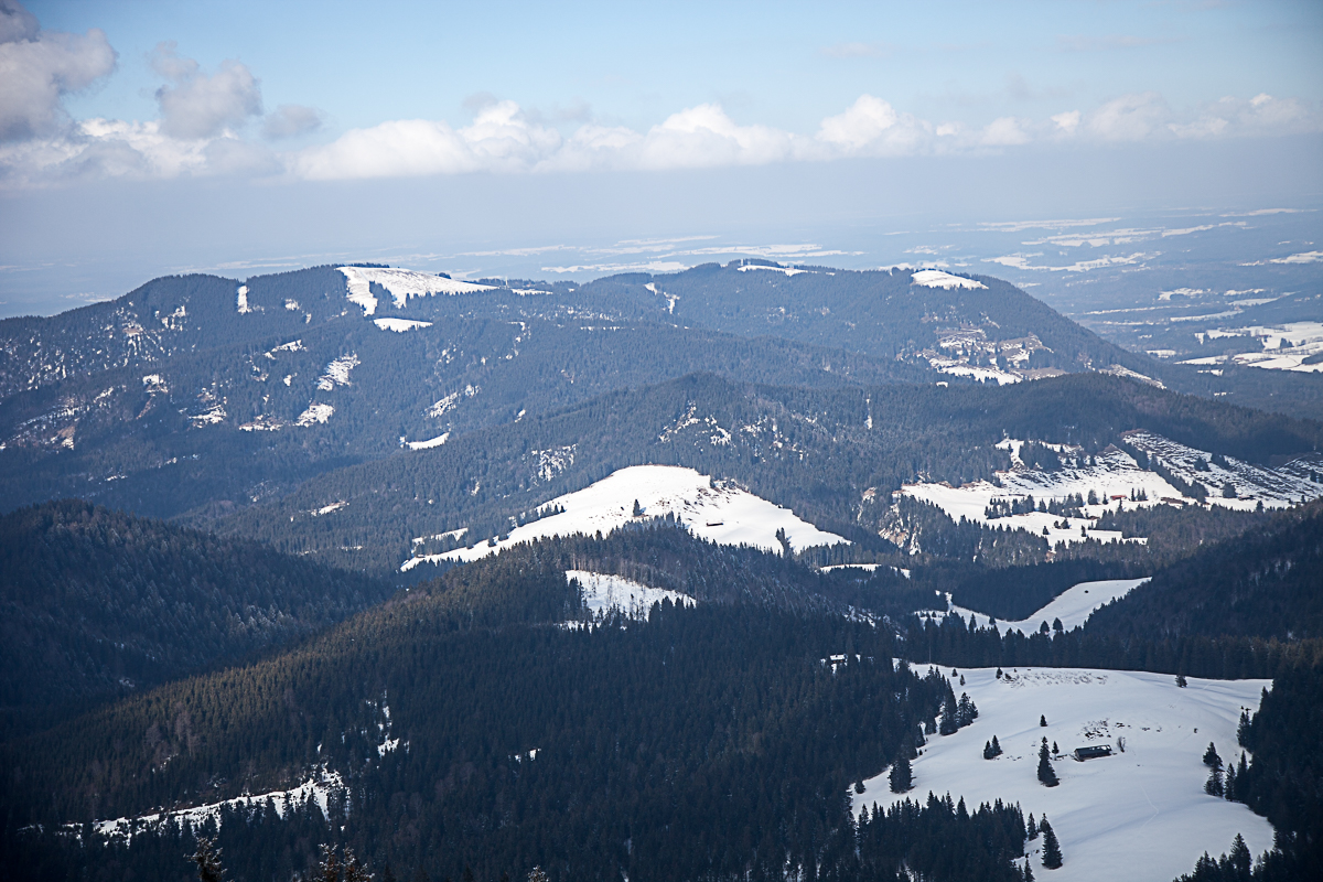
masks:
[[[824,52],[865,57],[882,49],[843,44]],[[45,32],[17,0],[0,0],[0,186],[98,177],[361,180],[665,171],[1323,131],[1323,114],[1314,103],[1267,94],[1226,97],[1177,112],[1159,93],[1142,91],[1089,108],[1062,107],[1045,119],[1002,116],[982,127],[922,119],[863,94],[824,116],[814,132],[737,122],[717,103],[681,108],[636,131],[602,124],[586,107],[548,119],[513,100],[475,95],[466,102],[474,114],[467,126],[393,119],[308,144],[323,126],[323,114],[300,104],[282,104],[267,114],[261,81],[243,63],[225,61],[206,71],[172,42],[160,44],[149,61],[161,79],[156,119],[74,120],[64,97],[115,69],[116,56],[105,33]],[[277,149],[278,141],[288,139],[298,139],[294,147]]]

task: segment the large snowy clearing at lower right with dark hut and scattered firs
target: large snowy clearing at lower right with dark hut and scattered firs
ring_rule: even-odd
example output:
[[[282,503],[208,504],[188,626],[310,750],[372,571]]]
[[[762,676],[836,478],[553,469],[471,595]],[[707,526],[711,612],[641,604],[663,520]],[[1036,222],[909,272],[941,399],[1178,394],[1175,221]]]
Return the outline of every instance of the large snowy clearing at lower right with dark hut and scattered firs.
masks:
[[[1065,865],[1039,878],[1172,879],[1189,873],[1205,850],[1221,854],[1241,833],[1250,852],[1273,845],[1273,828],[1245,805],[1204,793],[1208,742],[1224,762],[1238,758],[1236,726],[1242,707],[1257,709],[1267,680],[1197,680],[1176,686],[1174,677],[1144,672],[1033,668],[998,680],[994,669],[963,669],[979,718],[954,735],[929,738],[914,760],[910,799],[929,791],[966,805],[1002,799],[1028,815],[1044,813],[1061,841]],[[1039,726],[1045,715],[1046,727]],[[1002,756],[983,759],[983,742],[998,737]],[[1062,751],[1053,762],[1058,787],[1037,780],[1039,744],[1046,738]],[[1125,752],[1119,739],[1125,738]],[[1076,747],[1110,744],[1114,754],[1077,762]],[[864,782],[855,811],[898,801],[885,774]],[[1043,840],[1028,844],[1040,849]]]

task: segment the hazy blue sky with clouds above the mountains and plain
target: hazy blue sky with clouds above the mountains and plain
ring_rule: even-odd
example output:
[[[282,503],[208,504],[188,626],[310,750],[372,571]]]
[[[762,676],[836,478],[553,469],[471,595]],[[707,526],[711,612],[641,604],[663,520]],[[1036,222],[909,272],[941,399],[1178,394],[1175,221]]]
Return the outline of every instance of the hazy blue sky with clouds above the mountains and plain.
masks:
[[[1312,208],[1320,157],[1316,0],[0,0],[0,315],[382,254]]]

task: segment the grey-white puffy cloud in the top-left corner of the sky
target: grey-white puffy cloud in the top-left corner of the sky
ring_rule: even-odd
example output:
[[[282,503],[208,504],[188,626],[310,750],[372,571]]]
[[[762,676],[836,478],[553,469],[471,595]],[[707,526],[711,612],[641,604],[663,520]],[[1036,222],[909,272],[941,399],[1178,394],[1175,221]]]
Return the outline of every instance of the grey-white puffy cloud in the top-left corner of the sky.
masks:
[[[41,30],[17,0],[0,0],[0,141],[58,132],[69,124],[61,99],[114,69],[103,32]]]

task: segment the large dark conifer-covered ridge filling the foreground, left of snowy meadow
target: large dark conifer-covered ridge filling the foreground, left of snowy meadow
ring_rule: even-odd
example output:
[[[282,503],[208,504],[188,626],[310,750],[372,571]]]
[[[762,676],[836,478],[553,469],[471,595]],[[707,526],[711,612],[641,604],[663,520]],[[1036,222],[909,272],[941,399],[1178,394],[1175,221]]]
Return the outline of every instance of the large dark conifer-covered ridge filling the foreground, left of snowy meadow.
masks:
[[[57,875],[94,860],[184,878],[169,830],[101,857],[19,828],[287,787],[325,763],[348,782],[349,808],[332,807],[343,833],[306,813],[288,826],[232,817],[220,834],[241,878],[283,878],[325,840],[437,878],[534,863],[554,878],[781,878],[789,863],[892,879],[906,856],[933,878],[1017,878],[1017,809],[971,817],[938,801],[864,825],[868,842],[852,846],[847,787],[913,752],[954,701],[943,674],[893,668],[889,629],[738,596],[663,603],[647,621],[550,624],[582,618],[566,559],[665,571],[677,538],[659,528],[517,549],[292,652],[11,743],[5,848],[36,849]],[[740,550],[706,550],[754,569]],[[839,652],[847,664],[826,664]]]

